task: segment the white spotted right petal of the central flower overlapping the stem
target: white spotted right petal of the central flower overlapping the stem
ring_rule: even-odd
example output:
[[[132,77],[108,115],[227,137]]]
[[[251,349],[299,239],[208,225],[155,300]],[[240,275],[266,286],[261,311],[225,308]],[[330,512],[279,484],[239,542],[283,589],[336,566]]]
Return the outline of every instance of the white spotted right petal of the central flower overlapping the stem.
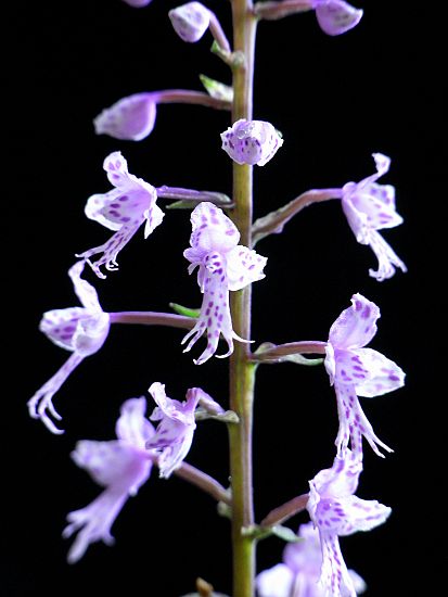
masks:
[[[252,249],[239,244],[227,254],[227,276],[229,290],[241,290],[252,282],[263,280],[266,275],[263,268],[267,257],[258,255]]]

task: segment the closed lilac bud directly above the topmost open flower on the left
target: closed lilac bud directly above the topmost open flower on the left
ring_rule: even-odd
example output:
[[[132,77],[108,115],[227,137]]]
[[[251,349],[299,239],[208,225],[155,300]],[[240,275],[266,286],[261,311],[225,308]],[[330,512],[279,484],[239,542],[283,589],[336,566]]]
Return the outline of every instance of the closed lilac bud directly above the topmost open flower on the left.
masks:
[[[108,135],[125,141],[141,141],[155,124],[157,96],[135,93],[105,107],[94,119],[97,135]]]

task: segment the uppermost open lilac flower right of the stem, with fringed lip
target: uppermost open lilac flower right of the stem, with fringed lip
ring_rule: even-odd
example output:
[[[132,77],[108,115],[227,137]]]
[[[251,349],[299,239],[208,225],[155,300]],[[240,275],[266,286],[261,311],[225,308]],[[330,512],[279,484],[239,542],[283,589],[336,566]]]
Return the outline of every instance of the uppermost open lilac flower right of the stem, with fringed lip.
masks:
[[[394,228],[402,223],[395,209],[395,188],[377,185],[376,180],[389,169],[391,160],[382,153],[373,153],[376,173],[360,182],[347,182],[343,187],[342,207],[356,240],[369,244],[376,255],[379,268],[369,270],[379,282],[391,278],[395,268],[407,271],[406,265],[383,239],[379,230]]]

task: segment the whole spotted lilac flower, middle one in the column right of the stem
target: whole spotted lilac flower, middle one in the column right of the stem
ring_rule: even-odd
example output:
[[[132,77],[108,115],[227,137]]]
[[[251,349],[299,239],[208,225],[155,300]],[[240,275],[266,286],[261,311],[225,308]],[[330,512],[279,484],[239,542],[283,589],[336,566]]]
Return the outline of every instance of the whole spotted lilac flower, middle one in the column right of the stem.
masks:
[[[334,384],[340,429],[335,444],[343,454],[350,441],[354,453],[362,454],[362,436],[372,449],[393,452],[373,432],[358,396],[373,397],[401,388],[405,373],[396,363],[372,348],[364,348],[376,333],[379,307],[361,294],[354,294],[351,306],[343,310],[330,329],[325,369]]]

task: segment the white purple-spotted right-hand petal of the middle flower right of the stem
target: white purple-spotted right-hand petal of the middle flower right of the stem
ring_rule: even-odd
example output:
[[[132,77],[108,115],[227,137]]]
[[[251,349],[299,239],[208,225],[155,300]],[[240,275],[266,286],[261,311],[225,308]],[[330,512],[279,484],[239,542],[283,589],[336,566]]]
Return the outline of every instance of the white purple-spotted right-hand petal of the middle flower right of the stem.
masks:
[[[356,382],[356,393],[359,396],[371,398],[393,392],[405,384],[406,373],[389,358],[372,348],[358,348],[361,366],[369,371],[369,376]]]

